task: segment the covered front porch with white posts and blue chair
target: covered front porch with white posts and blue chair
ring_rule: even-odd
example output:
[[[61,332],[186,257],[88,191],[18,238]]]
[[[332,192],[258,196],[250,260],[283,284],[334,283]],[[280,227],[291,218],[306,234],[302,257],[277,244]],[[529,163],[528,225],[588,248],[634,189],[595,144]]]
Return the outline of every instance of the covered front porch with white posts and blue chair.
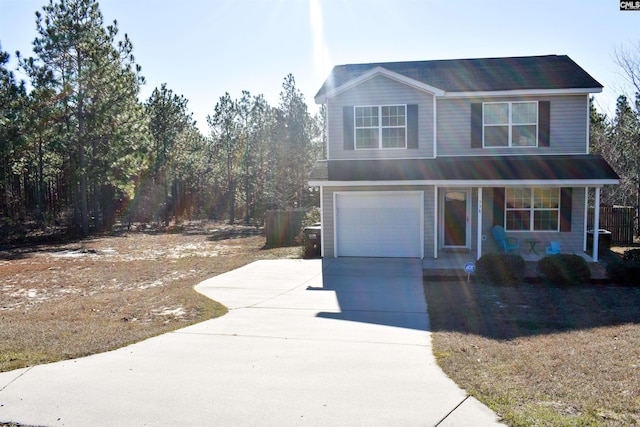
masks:
[[[514,183],[509,184],[506,186],[507,194],[509,188],[516,187]],[[522,202],[524,208],[517,207],[516,203],[520,200],[513,200],[514,196],[505,200],[505,187],[435,186],[435,221],[432,233],[434,252],[432,257],[425,259],[425,268],[450,269],[452,267],[449,264],[459,265],[461,268],[466,262],[475,262],[486,253],[501,250],[492,233],[496,224],[512,228],[507,231],[509,238],[518,239],[519,250],[516,252],[526,262],[537,262],[543,258],[546,247],[552,241],[561,244],[562,253],[574,253],[587,262],[598,262],[598,233],[592,234],[592,242],[589,241],[589,246],[594,251],[587,251],[588,237],[591,237],[590,227],[587,225],[587,206],[590,191],[593,191],[595,205],[599,205],[600,186],[589,188],[572,183],[572,187],[562,187],[558,182],[540,182],[536,186],[522,182],[518,184],[518,187],[524,189],[522,191],[528,191],[527,204]],[[519,194],[518,189],[512,190],[512,193]],[[541,189],[539,193],[538,189]],[[538,194],[552,197],[538,201],[537,197],[542,197]],[[532,198],[530,203],[528,197]],[[548,206],[540,208],[538,203],[546,203]],[[507,217],[507,214],[514,211],[520,217]],[[521,211],[527,216],[522,217]],[[544,216],[538,216],[539,214]],[[543,222],[545,219],[546,222]],[[593,223],[595,229],[599,229],[597,210]]]

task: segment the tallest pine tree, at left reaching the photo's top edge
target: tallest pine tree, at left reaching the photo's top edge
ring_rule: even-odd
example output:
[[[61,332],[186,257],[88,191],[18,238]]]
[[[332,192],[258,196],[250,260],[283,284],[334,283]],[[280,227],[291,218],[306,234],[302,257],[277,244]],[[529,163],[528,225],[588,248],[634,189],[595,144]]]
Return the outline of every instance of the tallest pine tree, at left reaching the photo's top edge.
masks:
[[[36,17],[34,52],[64,110],[74,217],[87,235],[90,193],[97,218],[101,195],[114,191],[109,169],[130,154],[123,147],[133,138],[123,129],[138,126],[136,96],[143,80],[130,40],[125,35],[116,43],[117,22],[105,27],[97,1],[50,0]]]

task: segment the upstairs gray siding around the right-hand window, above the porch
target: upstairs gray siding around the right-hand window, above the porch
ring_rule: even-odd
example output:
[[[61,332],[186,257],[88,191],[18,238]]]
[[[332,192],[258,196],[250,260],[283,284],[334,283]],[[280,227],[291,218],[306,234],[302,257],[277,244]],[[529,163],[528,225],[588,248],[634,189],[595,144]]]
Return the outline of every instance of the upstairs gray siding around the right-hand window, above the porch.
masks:
[[[587,152],[587,95],[437,99],[438,156],[584,154]],[[471,148],[471,104],[550,101],[549,147]]]

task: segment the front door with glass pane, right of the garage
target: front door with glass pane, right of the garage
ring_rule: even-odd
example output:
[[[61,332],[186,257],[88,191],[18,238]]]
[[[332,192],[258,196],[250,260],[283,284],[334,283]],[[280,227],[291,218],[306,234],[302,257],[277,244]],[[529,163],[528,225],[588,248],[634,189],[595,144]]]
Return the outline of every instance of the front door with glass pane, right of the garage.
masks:
[[[442,190],[440,240],[443,248],[471,248],[471,197],[468,189]]]

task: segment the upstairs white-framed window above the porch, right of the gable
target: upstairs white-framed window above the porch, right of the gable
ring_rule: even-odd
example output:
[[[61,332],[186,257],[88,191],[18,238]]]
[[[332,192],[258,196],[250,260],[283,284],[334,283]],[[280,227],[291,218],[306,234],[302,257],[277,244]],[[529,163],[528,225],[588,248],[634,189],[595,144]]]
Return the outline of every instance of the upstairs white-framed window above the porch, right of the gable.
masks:
[[[483,104],[484,147],[536,147],[537,102],[487,102]]]

